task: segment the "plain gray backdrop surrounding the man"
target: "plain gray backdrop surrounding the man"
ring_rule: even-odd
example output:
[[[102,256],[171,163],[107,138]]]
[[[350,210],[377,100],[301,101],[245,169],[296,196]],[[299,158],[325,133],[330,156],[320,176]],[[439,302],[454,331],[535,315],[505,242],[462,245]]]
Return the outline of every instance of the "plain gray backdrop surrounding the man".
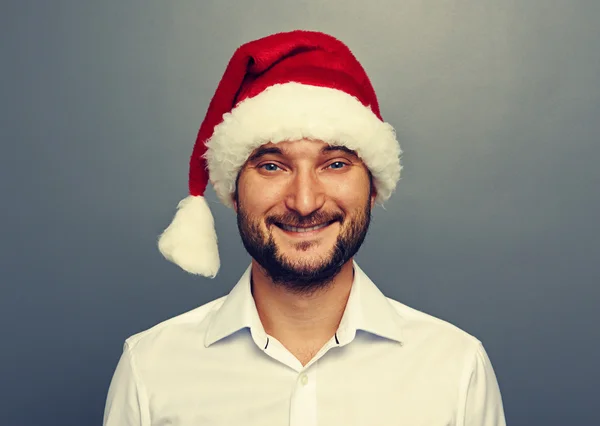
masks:
[[[483,341],[510,425],[600,424],[599,19],[597,0],[2,2],[0,422],[100,424],[124,339],[235,284],[249,260],[214,193],[218,278],[156,236],[233,50],[303,28],[350,46],[405,151],[361,266]]]

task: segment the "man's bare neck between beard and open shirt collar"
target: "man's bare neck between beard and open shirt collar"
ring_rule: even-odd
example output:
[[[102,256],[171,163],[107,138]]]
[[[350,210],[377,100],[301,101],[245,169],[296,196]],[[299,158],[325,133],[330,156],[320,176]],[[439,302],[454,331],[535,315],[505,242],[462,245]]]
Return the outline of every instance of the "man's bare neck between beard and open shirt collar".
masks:
[[[336,332],[352,288],[352,259],[322,289],[299,294],[273,283],[252,261],[252,294],[267,334],[285,346],[322,345]]]

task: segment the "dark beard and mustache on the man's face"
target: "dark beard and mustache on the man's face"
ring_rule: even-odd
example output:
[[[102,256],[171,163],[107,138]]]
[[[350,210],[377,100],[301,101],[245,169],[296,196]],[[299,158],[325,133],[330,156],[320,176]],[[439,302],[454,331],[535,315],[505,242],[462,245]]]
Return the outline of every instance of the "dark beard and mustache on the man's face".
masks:
[[[324,214],[315,212],[309,216],[299,216],[288,213],[282,216],[266,219],[267,227],[277,223],[302,226],[311,226],[324,222],[338,221],[344,223],[342,214]],[[327,287],[346,264],[357,252],[369,229],[371,221],[371,204],[366,206],[360,214],[343,229],[337,238],[332,253],[320,265],[306,266],[294,264],[286,259],[277,249],[273,235],[264,238],[259,222],[252,220],[239,205],[237,223],[244,247],[260,266],[263,267],[269,278],[275,283],[286,287],[297,294],[311,294]],[[299,243],[296,249],[305,251],[311,247],[311,242]]]

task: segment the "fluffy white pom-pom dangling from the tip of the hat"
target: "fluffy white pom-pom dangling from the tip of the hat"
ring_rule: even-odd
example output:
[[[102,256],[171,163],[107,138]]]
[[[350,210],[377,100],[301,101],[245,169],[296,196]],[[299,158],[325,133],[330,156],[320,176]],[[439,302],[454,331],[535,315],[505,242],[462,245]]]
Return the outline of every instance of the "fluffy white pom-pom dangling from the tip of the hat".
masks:
[[[219,271],[217,233],[204,197],[188,196],[158,240],[160,252],[191,274],[213,278]]]

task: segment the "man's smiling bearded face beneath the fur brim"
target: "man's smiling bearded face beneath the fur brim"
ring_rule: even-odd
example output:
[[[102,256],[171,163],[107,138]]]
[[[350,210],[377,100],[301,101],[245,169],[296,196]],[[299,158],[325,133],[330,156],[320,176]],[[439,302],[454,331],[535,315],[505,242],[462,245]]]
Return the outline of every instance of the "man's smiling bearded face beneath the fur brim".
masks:
[[[272,281],[308,292],[330,283],[356,254],[375,196],[353,151],[286,141],[252,153],[234,207],[244,246]]]

